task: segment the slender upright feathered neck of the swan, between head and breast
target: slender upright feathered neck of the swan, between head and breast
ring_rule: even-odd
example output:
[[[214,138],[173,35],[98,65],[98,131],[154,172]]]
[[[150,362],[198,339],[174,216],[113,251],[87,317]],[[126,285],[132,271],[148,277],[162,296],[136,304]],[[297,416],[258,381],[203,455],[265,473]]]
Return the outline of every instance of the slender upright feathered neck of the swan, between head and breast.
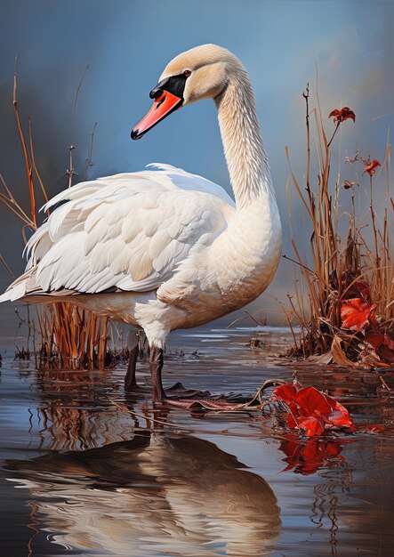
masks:
[[[234,70],[215,103],[237,209],[261,198],[275,203],[252,85],[242,66]]]

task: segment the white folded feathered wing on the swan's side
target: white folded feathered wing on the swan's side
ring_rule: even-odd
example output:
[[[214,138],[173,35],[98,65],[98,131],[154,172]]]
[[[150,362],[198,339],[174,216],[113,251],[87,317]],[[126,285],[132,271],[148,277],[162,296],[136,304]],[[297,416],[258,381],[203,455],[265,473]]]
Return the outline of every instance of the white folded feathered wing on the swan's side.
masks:
[[[234,212],[219,186],[169,166],[77,184],[44,209],[62,201],[28,241],[35,294],[156,289]]]

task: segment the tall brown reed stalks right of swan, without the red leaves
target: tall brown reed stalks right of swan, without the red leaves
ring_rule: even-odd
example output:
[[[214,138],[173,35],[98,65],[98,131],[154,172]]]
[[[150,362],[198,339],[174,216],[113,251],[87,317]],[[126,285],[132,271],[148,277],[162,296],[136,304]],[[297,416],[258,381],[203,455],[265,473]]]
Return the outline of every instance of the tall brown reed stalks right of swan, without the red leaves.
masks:
[[[372,246],[366,238],[366,223],[360,222],[355,209],[356,182],[350,184],[350,214],[341,213],[341,196],[345,192],[338,179],[331,179],[331,146],[336,133],[342,125],[342,120],[336,122],[334,132],[327,141],[325,126],[319,101],[317,108],[310,111],[309,86],[303,94],[306,104],[307,128],[307,162],[306,177],[302,185],[293,172],[290,162],[289,149],[285,148],[287,161],[293,187],[310,223],[309,253],[302,257],[296,239],[293,237],[291,209],[290,231],[291,244],[295,254],[300,284],[295,283],[294,295],[289,295],[290,308],[285,312],[289,323],[297,323],[301,327],[298,341],[294,341],[291,353],[293,355],[308,357],[315,354],[324,354],[335,347],[335,353],[343,351],[345,359],[355,360],[360,355],[359,343],[363,337],[359,334],[350,334],[342,327],[342,303],[350,297],[351,288],[362,280],[370,289],[372,303],[376,304],[375,315],[380,330],[387,334],[394,331],[394,270],[392,265],[392,252],[390,246],[390,220],[393,221],[394,206],[388,206],[384,211],[383,221],[379,223],[374,208],[374,176],[370,175],[369,181],[369,219],[367,224],[372,230]],[[316,164],[318,180],[315,189],[310,185],[310,167],[312,165],[310,149],[310,124],[311,116],[314,123],[313,132],[316,137]],[[354,116],[354,115],[353,115]],[[346,119],[346,118],[345,118]],[[361,160],[364,164],[369,162],[358,154],[347,162]],[[388,191],[390,190],[390,142],[388,141],[385,165],[388,174]],[[387,196],[388,198],[390,196]],[[392,203],[392,199],[391,199]],[[390,216],[389,216],[390,214]],[[341,237],[340,221],[348,219],[347,233]],[[286,259],[291,259],[285,256]],[[303,293],[306,293],[304,295]],[[292,313],[293,319],[289,315]],[[292,328],[292,334],[293,328]],[[334,349],[333,349],[334,353]],[[335,359],[335,358],[334,358]]]

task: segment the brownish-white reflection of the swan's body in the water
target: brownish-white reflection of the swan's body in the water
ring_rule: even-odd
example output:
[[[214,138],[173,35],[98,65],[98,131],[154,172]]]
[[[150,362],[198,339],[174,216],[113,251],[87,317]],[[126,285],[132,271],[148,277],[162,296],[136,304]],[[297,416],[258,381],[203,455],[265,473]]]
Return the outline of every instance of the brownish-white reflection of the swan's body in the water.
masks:
[[[128,557],[265,554],[280,529],[277,499],[242,468],[209,441],[165,432],[6,466],[55,542]]]

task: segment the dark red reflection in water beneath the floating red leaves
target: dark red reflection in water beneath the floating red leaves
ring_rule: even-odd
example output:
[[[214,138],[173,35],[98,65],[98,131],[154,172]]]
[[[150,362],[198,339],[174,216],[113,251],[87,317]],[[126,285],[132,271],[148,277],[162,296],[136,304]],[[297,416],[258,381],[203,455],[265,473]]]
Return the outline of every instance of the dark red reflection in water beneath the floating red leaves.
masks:
[[[288,434],[279,448],[285,453],[283,460],[287,463],[282,472],[293,469],[296,473],[308,475],[317,472],[323,465],[333,466],[338,460],[344,461],[344,457],[340,456],[342,446],[338,440],[314,438],[301,442],[295,435]]]

